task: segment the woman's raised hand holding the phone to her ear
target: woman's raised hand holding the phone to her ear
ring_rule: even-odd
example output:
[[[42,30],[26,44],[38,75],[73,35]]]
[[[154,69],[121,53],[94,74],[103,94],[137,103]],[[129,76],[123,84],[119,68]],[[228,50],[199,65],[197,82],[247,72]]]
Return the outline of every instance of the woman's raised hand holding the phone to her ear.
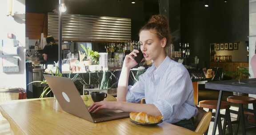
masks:
[[[130,54],[125,56],[123,67],[131,69],[132,67],[137,65],[137,62],[133,58],[134,56],[137,56],[136,53],[139,53],[139,51],[133,50]]]

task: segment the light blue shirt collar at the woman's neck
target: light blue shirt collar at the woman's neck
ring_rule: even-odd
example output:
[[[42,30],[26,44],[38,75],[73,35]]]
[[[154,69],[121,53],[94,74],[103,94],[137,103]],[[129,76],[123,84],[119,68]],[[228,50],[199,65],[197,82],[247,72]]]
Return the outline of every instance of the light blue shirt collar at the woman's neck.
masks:
[[[156,75],[159,75],[159,76],[162,76],[164,75],[164,72],[165,70],[167,69],[168,67],[168,64],[171,62],[172,60],[166,56],[164,61],[161,62],[161,64],[156,68],[155,64],[152,64],[152,67],[153,67],[153,70],[151,71],[151,75],[152,74],[156,74]]]

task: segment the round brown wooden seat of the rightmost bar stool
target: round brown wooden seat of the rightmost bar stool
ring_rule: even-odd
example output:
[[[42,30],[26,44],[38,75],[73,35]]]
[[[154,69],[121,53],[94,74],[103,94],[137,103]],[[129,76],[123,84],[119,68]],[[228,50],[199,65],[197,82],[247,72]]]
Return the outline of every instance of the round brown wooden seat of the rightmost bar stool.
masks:
[[[256,99],[253,97],[248,96],[229,96],[227,98],[227,101],[230,103],[242,103],[242,104],[248,104],[248,103],[256,103]]]

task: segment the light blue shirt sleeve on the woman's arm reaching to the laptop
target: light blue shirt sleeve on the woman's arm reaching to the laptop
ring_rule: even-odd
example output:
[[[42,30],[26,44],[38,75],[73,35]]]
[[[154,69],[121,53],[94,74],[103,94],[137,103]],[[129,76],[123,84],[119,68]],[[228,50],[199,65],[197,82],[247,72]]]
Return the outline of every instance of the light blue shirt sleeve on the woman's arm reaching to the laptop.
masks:
[[[164,120],[170,119],[184,102],[191,98],[193,92],[192,81],[185,69],[172,71],[166,79],[166,87],[161,92],[159,99],[153,104],[158,108]]]

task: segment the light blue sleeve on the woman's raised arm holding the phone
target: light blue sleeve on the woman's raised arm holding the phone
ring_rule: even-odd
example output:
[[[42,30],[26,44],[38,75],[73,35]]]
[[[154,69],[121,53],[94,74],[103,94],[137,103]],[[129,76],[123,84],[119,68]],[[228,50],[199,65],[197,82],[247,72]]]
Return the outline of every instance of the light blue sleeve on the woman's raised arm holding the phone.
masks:
[[[138,103],[142,98],[145,97],[144,91],[144,74],[139,76],[139,81],[137,81],[133,86],[128,86],[128,91],[126,95],[126,102]]]

